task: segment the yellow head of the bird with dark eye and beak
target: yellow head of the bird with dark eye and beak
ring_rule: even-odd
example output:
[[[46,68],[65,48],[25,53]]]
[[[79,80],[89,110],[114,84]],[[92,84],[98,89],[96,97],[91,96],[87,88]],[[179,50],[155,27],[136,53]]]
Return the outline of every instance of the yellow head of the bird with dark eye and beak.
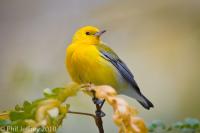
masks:
[[[73,42],[83,42],[84,44],[98,44],[100,37],[105,30],[100,31],[98,28],[93,26],[85,26],[80,28],[73,36]]]

